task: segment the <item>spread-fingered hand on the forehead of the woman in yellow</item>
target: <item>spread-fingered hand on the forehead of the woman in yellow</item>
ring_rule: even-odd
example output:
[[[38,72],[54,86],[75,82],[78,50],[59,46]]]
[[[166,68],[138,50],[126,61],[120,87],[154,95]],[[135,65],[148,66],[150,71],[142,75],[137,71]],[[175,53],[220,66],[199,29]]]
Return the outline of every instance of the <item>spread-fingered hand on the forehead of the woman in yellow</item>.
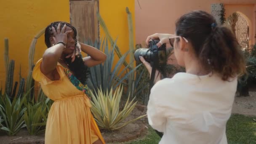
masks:
[[[65,44],[67,44],[67,34],[69,34],[72,31],[70,30],[70,31],[65,32],[66,27],[67,27],[67,25],[65,24],[63,26],[63,28],[61,29],[60,23],[58,24],[57,31],[54,27],[52,27],[53,35],[54,35],[53,36],[54,43],[64,42]]]

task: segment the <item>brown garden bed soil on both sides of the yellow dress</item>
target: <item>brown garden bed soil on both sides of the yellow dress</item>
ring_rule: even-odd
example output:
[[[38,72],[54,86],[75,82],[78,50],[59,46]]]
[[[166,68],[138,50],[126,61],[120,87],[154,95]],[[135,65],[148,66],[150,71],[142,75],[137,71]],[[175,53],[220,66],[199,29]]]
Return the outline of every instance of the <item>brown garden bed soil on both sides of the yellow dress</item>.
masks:
[[[125,120],[132,120],[136,117],[146,114],[146,107],[137,105],[131,115]],[[147,118],[137,120],[130,123],[117,131],[104,131],[101,130],[102,136],[107,143],[111,142],[123,142],[136,139],[141,136],[141,133],[145,131]],[[44,134],[38,136],[30,136],[27,134],[27,129],[23,128],[16,136],[7,136],[3,131],[0,131],[0,144],[44,144]]]

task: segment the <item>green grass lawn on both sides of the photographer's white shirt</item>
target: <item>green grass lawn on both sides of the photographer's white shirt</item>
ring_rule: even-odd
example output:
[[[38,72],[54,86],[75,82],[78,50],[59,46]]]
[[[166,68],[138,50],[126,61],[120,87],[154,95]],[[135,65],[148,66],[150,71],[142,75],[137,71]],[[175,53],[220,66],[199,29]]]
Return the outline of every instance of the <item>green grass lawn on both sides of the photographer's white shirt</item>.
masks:
[[[229,144],[256,144],[256,117],[232,115],[227,123],[227,139]],[[160,137],[152,128],[148,135],[122,144],[158,144]]]

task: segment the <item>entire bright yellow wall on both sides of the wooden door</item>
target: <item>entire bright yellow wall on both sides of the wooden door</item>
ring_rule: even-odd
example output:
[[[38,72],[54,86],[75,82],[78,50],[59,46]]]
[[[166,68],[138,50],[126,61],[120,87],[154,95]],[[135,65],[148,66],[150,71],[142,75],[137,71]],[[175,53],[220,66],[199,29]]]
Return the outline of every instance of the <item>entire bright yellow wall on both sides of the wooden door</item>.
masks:
[[[133,14],[134,0],[99,0],[99,11],[110,34],[118,37],[117,45],[125,53],[129,48],[128,21],[125,7]],[[59,8],[56,8],[56,5]],[[0,83],[5,84],[5,64],[3,61],[4,38],[9,39],[9,58],[15,60],[14,80],[28,73],[28,52],[33,37],[52,21],[69,22],[69,0],[0,0]],[[134,28],[135,29],[135,28]],[[100,29],[100,37],[104,32]],[[37,40],[34,63],[42,56],[46,46],[44,37]],[[115,62],[118,60],[115,55]]]

